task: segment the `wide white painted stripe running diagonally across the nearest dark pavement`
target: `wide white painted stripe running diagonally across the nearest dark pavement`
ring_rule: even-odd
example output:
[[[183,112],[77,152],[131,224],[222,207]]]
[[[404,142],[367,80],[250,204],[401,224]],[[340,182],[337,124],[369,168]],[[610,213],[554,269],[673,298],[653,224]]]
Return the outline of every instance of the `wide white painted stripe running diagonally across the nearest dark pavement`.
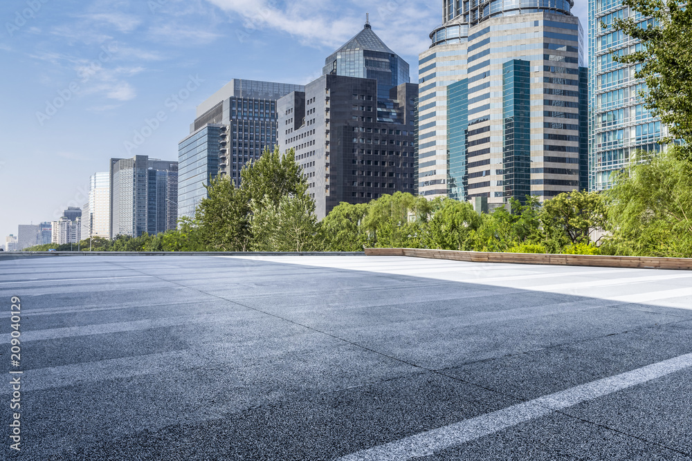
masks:
[[[566,391],[516,404],[500,411],[450,424],[439,429],[411,435],[410,437],[374,446],[338,461],[408,460],[410,458],[433,455],[435,451],[471,442],[517,424],[535,420],[588,400],[604,397],[614,392],[650,382],[692,366],[692,354],[680,355],[657,364],[638,368],[621,375],[599,379],[582,384]]]

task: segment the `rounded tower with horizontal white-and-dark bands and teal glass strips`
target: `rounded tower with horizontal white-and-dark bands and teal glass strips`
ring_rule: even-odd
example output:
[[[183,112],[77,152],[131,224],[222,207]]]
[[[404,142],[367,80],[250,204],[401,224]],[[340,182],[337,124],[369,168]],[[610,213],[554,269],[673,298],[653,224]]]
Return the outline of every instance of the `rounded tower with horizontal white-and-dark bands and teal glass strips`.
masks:
[[[419,56],[422,196],[543,201],[585,189],[583,30],[567,0],[445,0]]]

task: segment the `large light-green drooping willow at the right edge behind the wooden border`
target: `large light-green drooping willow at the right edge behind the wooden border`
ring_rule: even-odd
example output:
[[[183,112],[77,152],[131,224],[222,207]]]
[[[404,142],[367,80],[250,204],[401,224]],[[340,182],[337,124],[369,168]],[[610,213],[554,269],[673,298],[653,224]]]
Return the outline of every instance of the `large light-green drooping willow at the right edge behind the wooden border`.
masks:
[[[636,162],[634,162],[636,163]],[[665,153],[632,164],[608,191],[611,254],[692,256],[692,164]]]

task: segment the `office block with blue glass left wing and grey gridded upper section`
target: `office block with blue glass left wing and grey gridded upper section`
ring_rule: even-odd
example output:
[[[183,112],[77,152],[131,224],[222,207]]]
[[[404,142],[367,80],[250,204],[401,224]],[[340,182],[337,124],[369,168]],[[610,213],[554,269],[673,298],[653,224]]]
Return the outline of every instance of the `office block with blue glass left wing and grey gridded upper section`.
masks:
[[[197,107],[190,135],[179,143],[179,216],[194,216],[217,176],[240,184],[240,171],[277,143],[276,101],[304,86],[233,79]]]

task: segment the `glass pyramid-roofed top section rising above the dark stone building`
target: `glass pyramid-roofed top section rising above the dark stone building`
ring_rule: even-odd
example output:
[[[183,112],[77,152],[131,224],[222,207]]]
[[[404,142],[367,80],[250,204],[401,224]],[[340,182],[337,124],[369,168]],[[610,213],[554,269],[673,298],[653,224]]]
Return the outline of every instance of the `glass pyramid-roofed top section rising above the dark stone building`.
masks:
[[[386,100],[392,88],[411,82],[409,70],[408,62],[390,50],[367,21],[358,35],[325,59],[322,75],[375,79],[378,99]]]

